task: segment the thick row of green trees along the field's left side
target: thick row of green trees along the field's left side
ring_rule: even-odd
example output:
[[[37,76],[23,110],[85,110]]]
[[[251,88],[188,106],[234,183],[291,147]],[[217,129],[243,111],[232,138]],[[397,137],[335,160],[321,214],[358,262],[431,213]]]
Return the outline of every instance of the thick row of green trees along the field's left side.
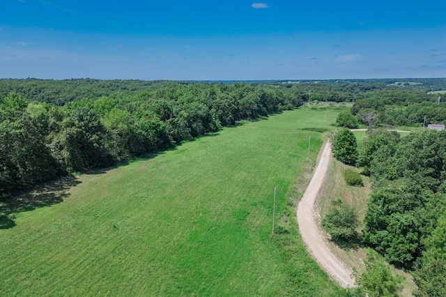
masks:
[[[291,90],[240,83],[171,84],[63,106],[8,93],[0,97],[0,197],[301,104]]]

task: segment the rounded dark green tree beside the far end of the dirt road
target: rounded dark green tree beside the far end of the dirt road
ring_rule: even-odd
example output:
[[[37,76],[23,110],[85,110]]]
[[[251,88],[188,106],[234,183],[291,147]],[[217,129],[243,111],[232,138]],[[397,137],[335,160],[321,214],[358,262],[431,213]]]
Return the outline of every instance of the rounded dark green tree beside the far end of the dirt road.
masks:
[[[343,129],[334,136],[332,142],[334,158],[347,165],[355,165],[357,159],[356,137],[348,129]]]

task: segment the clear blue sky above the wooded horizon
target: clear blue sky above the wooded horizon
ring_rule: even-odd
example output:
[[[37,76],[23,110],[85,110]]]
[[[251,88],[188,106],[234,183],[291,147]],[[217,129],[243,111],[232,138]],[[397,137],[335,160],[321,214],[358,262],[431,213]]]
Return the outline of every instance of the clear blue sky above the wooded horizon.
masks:
[[[446,77],[446,1],[1,0],[9,77]]]

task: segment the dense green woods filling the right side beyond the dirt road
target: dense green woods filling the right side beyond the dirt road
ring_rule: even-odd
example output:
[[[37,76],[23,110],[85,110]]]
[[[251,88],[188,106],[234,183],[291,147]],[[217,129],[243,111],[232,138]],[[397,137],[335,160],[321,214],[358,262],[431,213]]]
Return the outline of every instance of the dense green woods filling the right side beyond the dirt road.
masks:
[[[373,180],[364,243],[413,272],[415,296],[445,296],[446,132],[369,130],[357,167]]]

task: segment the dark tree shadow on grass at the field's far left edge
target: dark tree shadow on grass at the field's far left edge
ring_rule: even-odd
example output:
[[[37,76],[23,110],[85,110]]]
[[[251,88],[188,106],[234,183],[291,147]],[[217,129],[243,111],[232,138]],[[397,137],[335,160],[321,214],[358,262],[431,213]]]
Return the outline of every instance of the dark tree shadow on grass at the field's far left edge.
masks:
[[[15,213],[61,203],[70,195],[68,189],[79,183],[74,176],[66,176],[22,195],[3,199],[0,201],[0,229],[15,227]]]

